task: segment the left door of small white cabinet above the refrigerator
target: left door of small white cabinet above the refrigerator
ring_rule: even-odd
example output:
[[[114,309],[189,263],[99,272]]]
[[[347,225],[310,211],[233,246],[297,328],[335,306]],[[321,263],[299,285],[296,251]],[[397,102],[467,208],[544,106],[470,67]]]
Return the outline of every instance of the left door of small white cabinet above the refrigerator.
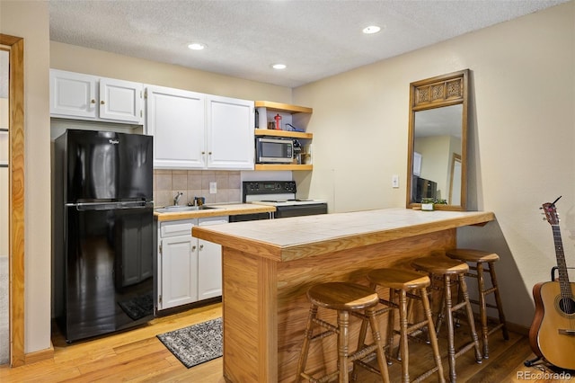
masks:
[[[50,114],[55,117],[97,117],[98,77],[50,69]]]

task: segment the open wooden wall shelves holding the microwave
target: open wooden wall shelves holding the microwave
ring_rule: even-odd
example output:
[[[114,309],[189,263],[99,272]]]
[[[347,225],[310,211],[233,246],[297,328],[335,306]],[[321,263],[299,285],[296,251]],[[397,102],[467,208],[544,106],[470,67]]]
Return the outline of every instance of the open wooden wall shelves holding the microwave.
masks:
[[[301,164],[256,164],[255,170],[313,170],[311,144],[314,135],[307,133],[305,129],[314,110],[305,106],[270,101],[256,101],[254,105],[259,114],[266,115],[265,119],[260,116],[259,125],[255,129],[256,137],[294,138],[302,146]],[[277,121],[280,129],[276,129]]]

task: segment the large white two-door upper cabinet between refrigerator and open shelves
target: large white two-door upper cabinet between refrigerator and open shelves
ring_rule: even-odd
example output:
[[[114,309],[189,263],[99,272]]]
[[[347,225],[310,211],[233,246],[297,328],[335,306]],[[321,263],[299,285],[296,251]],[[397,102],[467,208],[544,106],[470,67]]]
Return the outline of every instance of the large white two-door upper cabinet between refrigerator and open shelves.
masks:
[[[154,166],[253,169],[253,102],[147,86]]]

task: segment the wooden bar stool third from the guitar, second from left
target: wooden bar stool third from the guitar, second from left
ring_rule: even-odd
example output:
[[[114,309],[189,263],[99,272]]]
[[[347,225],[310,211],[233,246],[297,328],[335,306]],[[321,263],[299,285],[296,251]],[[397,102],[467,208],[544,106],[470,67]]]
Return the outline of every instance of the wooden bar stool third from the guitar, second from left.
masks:
[[[413,381],[420,381],[422,379],[428,378],[434,372],[438,372],[438,381],[445,382],[445,377],[443,375],[443,366],[441,365],[441,356],[439,355],[438,338],[435,332],[435,325],[433,325],[433,319],[431,317],[431,307],[429,306],[429,298],[427,288],[429,287],[431,281],[429,276],[421,274],[420,272],[413,272],[411,270],[396,269],[396,268],[386,268],[386,269],[376,269],[367,273],[367,281],[370,282],[370,287],[376,289],[377,287],[382,287],[389,289],[389,300],[384,298],[379,298],[379,303],[384,305],[386,308],[376,311],[376,315],[384,314],[385,312],[391,311],[392,309],[399,310],[399,322],[400,322],[400,340],[399,340],[399,351],[401,355],[402,362],[402,381],[407,383],[410,382],[409,373],[409,349],[408,349],[408,336],[416,331],[421,330],[423,327],[428,328],[429,333],[429,343],[433,350],[433,358],[435,360],[435,367],[427,370],[426,372],[420,374],[417,379]],[[419,323],[410,325],[408,323],[408,303],[407,298],[414,298],[420,300],[423,304],[423,311],[425,319]],[[394,346],[394,312],[389,313],[387,316],[387,355],[391,359],[392,349]],[[362,347],[367,333],[367,318],[364,319],[361,329],[359,331],[358,348]],[[366,367],[365,363],[361,360],[355,362],[357,365]],[[354,369],[353,378],[357,377],[356,370]]]

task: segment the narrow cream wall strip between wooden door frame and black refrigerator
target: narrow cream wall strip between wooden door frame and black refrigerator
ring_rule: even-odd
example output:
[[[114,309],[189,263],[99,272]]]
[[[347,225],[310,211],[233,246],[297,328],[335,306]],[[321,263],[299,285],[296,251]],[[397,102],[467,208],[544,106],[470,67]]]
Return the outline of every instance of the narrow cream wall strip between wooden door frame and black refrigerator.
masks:
[[[24,351],[50,347],[49,13],[1,1],[0,31],[24,39]]]

